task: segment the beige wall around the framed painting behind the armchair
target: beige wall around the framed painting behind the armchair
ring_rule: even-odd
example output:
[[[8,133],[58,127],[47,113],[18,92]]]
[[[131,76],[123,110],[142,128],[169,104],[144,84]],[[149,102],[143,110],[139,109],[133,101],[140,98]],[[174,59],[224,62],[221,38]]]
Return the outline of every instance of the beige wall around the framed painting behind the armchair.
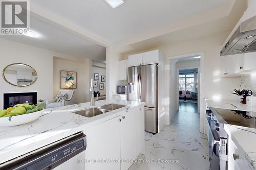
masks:
[[[60,70],[77,72],[77,88],[74,89],[74,102],[84,103],[90,101],[90,59],[74,61],[63,58],[53,58],[53,96],[60,90]]]

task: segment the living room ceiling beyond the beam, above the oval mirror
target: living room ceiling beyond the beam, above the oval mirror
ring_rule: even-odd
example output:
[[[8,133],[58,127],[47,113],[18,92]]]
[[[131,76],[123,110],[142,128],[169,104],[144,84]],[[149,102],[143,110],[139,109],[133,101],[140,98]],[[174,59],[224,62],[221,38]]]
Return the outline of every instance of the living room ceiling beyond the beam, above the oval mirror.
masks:
[[[90,58],[98,62],[106,60],[105,47],[63,30],[46,20],[43,21],[30,17],[30,29],[39,33],[39,37],[1,36],[1,38],[45,48],[73,57]]]

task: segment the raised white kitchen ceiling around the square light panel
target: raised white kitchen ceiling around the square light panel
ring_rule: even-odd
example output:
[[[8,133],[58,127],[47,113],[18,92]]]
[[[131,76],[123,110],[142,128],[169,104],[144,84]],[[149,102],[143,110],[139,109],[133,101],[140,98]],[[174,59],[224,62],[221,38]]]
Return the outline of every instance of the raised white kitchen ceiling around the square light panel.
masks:
[[[104,0],[33,0],[30,4],[65,18],[110,42],[116,42],[203,13],[229,1],[126,0],[115,9]]]

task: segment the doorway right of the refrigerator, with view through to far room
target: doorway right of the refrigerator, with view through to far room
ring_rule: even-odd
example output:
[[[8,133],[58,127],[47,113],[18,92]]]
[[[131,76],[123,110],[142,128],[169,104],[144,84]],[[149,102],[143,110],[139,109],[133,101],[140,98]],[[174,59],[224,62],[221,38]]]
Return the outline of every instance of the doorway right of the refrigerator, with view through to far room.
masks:
[[[204,132],[204,53],[168,57],[169,123],[179,112],[199,114]]]

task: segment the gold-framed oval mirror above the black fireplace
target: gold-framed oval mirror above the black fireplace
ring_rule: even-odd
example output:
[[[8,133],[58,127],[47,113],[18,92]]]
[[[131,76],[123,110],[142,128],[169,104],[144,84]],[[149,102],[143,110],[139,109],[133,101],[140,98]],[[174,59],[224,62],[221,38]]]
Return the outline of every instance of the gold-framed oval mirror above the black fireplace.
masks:
[[[6,66],[2,75],[7,83],[19,87],[29,86],[37,79],[35,69],[22,63],[15,63]]]

